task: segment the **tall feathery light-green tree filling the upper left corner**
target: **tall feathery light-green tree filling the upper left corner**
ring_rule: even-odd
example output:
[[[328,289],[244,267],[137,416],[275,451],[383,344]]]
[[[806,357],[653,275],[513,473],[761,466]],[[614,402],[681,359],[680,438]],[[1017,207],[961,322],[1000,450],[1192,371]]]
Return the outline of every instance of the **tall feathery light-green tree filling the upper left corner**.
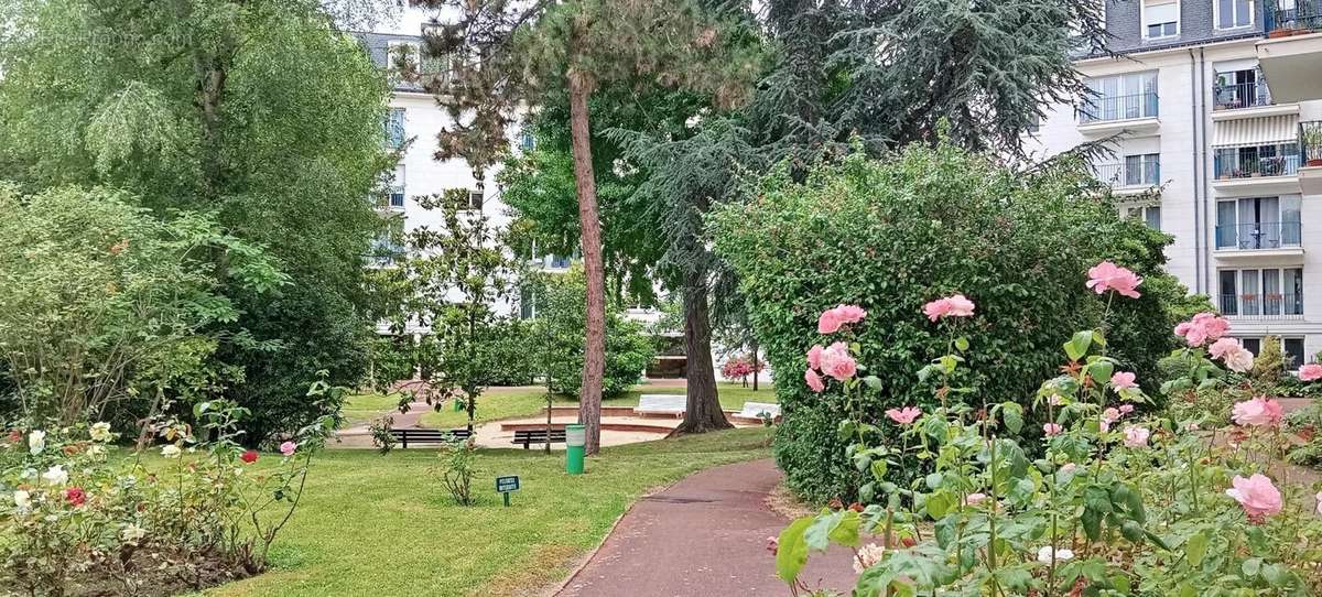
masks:
[[[341,22],[358,22],[361,4],[325,3]],[[15,0],[3,11],[21,24],[0,30],[7,176],[25,189],[126,189],[157,214],[214,214],[264,246],[293,284],[267,293],[218,277],[238,317],[217,328],[256,341],[218,347],[234,372],[225,390],[260,413],[245,421],[249,441],[323,415],[303,383],[328,370],[353,386],[365,372],[362,256],[381,221],[364,198],[390,164],[389,88],[356,38],[329,26],[317,0]]]

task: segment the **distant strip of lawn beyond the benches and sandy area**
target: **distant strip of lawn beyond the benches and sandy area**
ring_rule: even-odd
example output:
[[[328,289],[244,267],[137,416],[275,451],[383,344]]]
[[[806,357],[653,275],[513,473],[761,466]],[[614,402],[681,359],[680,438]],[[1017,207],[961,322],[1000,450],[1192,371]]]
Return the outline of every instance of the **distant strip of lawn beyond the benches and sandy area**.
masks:
[[[727,411],[743,409],[746,402],[776,402],[776,391],[769,383],[763,383],[755,392],[751,387],[744,388],[738,383],[718,383],[720,395],[720,408]],[[683,387],[674,386],[639,386],[620,396],[602,400],[605,407],[633,407],[639,404],[639,396],[644,394],[683,394]],[[555,396],[555,405],[576,407],[578,400],[567,396]],[[387,404],[389,409],[394,404]],[[500,419],[516,419],[526,416],[545,415],[546,392],[529,388],[493,388],[484,394],[477,402],[477,423],[494,421]],[[444,409],[442,412],[428,412],[422,416],[423,427],[449,428],[468,424],[468,413]]]

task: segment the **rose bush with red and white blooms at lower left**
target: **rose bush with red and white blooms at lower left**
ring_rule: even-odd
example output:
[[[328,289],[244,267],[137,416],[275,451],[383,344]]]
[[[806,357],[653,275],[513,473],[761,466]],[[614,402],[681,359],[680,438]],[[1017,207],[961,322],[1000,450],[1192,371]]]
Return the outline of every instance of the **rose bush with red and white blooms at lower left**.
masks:
[[[309,400],[329,388],[312,387]],[[16,423],[0,439],[0,594],[176,594],[260,572],[333,428],[300,429],[279,456],[238,441],[225,400],[151,425],[161,461],[122,457],[103,423]]]

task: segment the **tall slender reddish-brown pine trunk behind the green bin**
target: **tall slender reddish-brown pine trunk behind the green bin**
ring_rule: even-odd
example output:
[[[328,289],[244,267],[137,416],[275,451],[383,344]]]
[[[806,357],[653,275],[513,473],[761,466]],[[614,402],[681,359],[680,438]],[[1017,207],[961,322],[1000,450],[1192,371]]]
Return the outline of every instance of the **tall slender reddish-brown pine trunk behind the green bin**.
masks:
[[[602,258],[602,222],[596,207],[592,173],[592,139],[587,99],[591,81],[570,73],[570,133],[574,152],[574,182],[579,198],[583,269],[587,275],[587,345],[583,351],[583,388],[579,392],[579,423],[587,431],[584,453],[602,445],[602,384],[605,375],[605,267]]]

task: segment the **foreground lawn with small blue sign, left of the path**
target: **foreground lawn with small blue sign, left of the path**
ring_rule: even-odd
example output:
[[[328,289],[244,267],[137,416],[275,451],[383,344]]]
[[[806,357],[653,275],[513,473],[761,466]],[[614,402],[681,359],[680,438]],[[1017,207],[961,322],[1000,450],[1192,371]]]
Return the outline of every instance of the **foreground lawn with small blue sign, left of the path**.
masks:
[[[769,394],[769,392],[768,392]],[[213,597],[514,596],[561,582],[639,497],[715,465],[768,457],[769,429],[734,429],[605,448],[587,474],[563,457],[484,450],[481,502],[453,506],[434,450],[328,450],[272,548],[274,569]],[[494,477],[517,474],[509,509]]]

